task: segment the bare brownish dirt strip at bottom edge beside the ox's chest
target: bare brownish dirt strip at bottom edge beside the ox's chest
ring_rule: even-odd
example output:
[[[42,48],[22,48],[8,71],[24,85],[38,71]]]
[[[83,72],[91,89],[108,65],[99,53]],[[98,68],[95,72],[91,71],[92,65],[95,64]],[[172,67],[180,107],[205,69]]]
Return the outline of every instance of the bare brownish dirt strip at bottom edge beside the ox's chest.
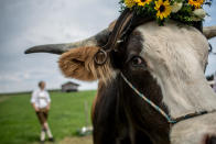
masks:
[[[93,144],[93,136],[65,137],[60,144]]]

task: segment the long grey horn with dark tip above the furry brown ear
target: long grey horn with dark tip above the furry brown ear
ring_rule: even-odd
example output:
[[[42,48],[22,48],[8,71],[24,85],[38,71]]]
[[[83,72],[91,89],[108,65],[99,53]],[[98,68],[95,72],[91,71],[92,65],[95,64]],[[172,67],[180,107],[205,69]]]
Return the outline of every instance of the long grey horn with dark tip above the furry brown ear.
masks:
[[[39,45],[33,46],[26,49],[25,54],[31,53],[52,53],[52,54],[63,54],[71,48],[76,48],[80,46],[101,46],[102,43],[107,42],[108,35],[110,31],[105,29],[104,31],[97,33],[96,35],[88,37],[84,41],[75,42],[75,43],[65,43],[65,44],[47,44],[47,45]]]

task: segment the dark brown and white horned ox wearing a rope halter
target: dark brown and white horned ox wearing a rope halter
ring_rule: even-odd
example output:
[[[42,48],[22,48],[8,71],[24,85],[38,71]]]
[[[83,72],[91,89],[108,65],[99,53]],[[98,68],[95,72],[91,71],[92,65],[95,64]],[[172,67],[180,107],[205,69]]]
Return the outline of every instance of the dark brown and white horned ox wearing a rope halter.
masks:
[[[95,144],[216,144],[216,95],[204,76],[207,38],[216,35],[216,27],[202,33],[201,26],[175,21],[159,26],[148,20],[118,49],[104,53],[118,27],[112,23],[85,41],[34,46],[25,53],[62,54],[58,64],[66,77],[99,79],[93,106]],[[171,124],[147,101],[173,120],[199,114]]]

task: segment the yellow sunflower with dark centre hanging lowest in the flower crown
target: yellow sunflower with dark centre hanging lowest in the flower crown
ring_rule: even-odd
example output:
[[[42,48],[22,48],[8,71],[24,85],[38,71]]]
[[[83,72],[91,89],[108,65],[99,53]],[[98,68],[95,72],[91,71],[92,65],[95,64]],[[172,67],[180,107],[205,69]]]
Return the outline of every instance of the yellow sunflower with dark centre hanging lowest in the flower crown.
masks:
[[[168,18],[171,13],[171,5],[169,0],[159,0],[155,1],[155,7],[154,9],[158,11],[156,12],[156,16],[160,18],[161,20],[163,20],[164,18]]]

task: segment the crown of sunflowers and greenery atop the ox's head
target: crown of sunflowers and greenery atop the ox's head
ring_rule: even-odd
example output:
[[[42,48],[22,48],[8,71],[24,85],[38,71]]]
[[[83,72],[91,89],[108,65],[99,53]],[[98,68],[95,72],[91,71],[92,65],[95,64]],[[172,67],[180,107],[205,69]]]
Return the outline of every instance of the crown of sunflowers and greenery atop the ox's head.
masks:
[[[121,0],[121,10],[134,10],[137,14],[154,18],[160,25],[169,19],[192,24],[204,21],[207,13],[204,4],[212,4],[212,0]]]

